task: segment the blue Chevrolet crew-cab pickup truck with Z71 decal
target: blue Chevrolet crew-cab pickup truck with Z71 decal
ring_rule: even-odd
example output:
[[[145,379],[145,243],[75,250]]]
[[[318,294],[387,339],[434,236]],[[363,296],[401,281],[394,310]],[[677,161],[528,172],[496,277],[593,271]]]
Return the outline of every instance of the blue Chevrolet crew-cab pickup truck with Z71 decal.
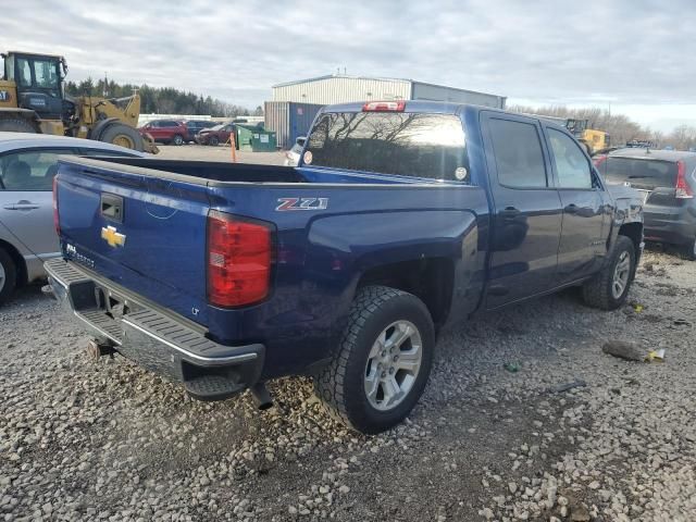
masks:
[[[100,352],[201,400],[308,374],[376,433],[421,396],[438,332],[568,286],[616,309],[642,198],[564,128],[433,102],[327,107],[298,167],[65,158],[46,269]]]

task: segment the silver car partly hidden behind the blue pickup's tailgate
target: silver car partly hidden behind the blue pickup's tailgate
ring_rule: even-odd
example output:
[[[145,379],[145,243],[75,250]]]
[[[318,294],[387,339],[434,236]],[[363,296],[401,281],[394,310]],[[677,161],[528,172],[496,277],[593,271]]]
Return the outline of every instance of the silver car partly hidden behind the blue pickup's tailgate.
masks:
[[[44,261],[60,256],[52,188],[62,154],[147,156],[89,139],[0,133],[0,304],[44,278]]]

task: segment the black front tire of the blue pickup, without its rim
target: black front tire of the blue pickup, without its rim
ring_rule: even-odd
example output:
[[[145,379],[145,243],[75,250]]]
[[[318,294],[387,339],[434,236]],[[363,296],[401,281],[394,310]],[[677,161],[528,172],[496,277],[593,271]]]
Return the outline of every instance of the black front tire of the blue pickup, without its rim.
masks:
[[[619,296],[614,296],[612,287],[614,284],[614,273],[617,265],[624,252],[630,257],[630,269],[627,282]],[[607,264],[595,277],[583,285],[583,300],[586,304],[601,310],[616,310],[624,303],[631,288],[631,283],[635,276],[635,247],[633,241],[626,236],[618,236]]]

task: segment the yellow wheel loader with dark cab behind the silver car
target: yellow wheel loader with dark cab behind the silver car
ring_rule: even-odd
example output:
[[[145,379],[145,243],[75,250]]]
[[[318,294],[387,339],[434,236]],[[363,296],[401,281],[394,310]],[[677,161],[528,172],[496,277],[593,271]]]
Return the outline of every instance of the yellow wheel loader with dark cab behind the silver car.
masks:
[[[140,96],[101,98],[65,95],[63,57],[10,51],[0,79],[0,130],[95,139],[157,153],[136,129]]]

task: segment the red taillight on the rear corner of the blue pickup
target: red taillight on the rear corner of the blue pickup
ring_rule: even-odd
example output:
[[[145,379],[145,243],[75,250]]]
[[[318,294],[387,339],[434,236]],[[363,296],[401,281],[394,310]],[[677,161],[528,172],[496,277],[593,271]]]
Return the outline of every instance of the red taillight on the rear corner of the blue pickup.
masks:
[[[271,281],[271,228],[211,210],[208,214],[208,300],[240,307],[264,299]]]

